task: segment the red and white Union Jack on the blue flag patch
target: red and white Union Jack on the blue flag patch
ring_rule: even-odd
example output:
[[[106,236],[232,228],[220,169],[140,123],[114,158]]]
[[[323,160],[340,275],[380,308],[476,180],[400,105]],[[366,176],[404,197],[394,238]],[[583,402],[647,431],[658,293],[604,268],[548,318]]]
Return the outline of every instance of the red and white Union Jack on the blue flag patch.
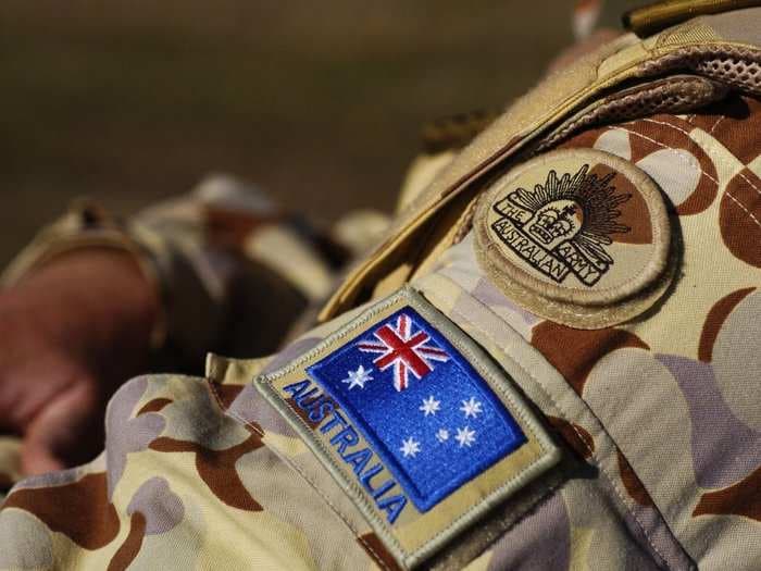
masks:
[[[360,351],[379,353],[373,363],[380,371],[394,367],[394,387],[397,390],[409,387],[410,372],[420,381],[434,370],[432,361],[449,360],[447,351],[428,344],[431,335],[423,330],[413,335],[413,327],[412,318],[401,313],[396,327],[386,323],[373,332],[377,342],[361,340],[357,344]]]

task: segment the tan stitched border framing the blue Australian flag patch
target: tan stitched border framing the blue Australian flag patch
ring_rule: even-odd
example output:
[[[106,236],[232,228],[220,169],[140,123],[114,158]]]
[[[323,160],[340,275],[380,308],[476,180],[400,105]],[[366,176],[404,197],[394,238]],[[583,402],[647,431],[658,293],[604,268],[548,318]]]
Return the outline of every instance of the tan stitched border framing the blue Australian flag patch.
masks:
[[[509,450],[495,463],[462,483],[444,499],[434,502],[425,511],[408,504],[398,521],[389,523],[387,513],[357,474],[341,461],[328,438],[316,430],[313,422],[298,410],[294,399],[284,393],[304,378],[314,381],[308,369],[333,353],[348,342],[359,338],[370,327],[392,316],[401,308],[412,308],[431,326],[459,351],[463,359],[481,375],[494,396],[509,411],[525,434],[526,442]],[[353,505],[367,520],[376,535],[404,568],[419,564],[440,549],[460,531],[471,525],[491,507],[523,487],[539,474],[554,466],[560,451],[525,405],[509,375],[457,325],[442,315],[433,305],[412,288],[404,287],[385,300],[370,307],[353,321],[339,328],[313,349],[273,373],[262,375],[254,386],[299,434],[317,460],[338,482]],[[364,436],[361,444],[366,444]],[[372,448],[372,446],[370,446]],[[383,458],[382,458],[383,459]],[[384,473],[391,473],[386,469]],[[392,474],[391,474],[392,475]]]

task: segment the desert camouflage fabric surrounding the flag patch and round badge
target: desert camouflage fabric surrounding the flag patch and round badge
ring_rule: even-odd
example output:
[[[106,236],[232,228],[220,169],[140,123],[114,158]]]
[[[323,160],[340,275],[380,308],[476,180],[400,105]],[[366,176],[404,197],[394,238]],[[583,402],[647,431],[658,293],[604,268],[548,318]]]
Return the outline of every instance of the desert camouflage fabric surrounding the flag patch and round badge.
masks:
[[[759,29],[761,13],[749,10],[643,41],[625,36],[548,79],[451,160],[422,160],[425,171],[404,190],[407,208],[345,282],[329,321],[274,357],[210,356],[203,377],[148,375],[125,384],[109,406],[98,459],[10,492],[0,510],[0,568],[400,569],[251,380],[404,283],[508,373],[562,451],[546,476],[422,567],[761,568],[761,72],[744,63],[731,79],[711,63],[701,66],[698,53],[709,46],[715,59],[724,41],[728,67],[738,59],[759,62]],[[686,50],[682,67],[659,60],[676,58],[675,46]],[[662,65],[665,77],[693,65],[725,89],[689,110],[646,107],[639,116],[569,127],[573,113],[586,116],[611,96],[609,72],[628,70],[627,61],[640,71]],[[550,104],[572,100],[579,83],[600,95],[565,114]],[[548,109],[552,124],[541,119]],[[503,146],[503,132],[517,137],[512,146],[527,145],[539,123],[548,149],[615,154],[663,193],[678,240],[674,282],[629,321],[578,330],[522,308],[476,258],[478,189],[461,195],[457,209],[457,200],[437,195],[452,179],[475,178]],[[509,167],[494,163],[488,172]],[[429,231],[423,221],[432,211],[442,225],[431,234],[436,243],[422,256],[406,249],[401,237]],[[12,448],[0,440],[0,458],[12,457]]]

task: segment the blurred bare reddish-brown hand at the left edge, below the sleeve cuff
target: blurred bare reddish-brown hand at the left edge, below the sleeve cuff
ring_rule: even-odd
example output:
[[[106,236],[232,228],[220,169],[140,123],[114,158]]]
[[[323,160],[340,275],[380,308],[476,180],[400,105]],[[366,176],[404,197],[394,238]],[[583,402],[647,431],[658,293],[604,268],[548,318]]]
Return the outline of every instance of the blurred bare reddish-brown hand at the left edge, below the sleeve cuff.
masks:
[[[159,299],[133,257],[61,255],[0,291],[0,433],[23,438],[35,474],[103,446],[105,404],[144,371]]]

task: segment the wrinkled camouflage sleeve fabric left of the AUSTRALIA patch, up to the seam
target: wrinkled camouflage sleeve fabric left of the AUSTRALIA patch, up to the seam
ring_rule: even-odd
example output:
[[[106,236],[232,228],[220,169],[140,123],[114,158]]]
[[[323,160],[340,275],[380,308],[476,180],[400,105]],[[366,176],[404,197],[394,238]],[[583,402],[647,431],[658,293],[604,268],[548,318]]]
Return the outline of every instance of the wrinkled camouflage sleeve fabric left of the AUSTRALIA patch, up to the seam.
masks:
[[[242,380],[260,365],[235,367]],[[262,430],[225,413],[250,396],[183,375],[126,383],[98,459],[0,506],[0,569],[377,569]]]

